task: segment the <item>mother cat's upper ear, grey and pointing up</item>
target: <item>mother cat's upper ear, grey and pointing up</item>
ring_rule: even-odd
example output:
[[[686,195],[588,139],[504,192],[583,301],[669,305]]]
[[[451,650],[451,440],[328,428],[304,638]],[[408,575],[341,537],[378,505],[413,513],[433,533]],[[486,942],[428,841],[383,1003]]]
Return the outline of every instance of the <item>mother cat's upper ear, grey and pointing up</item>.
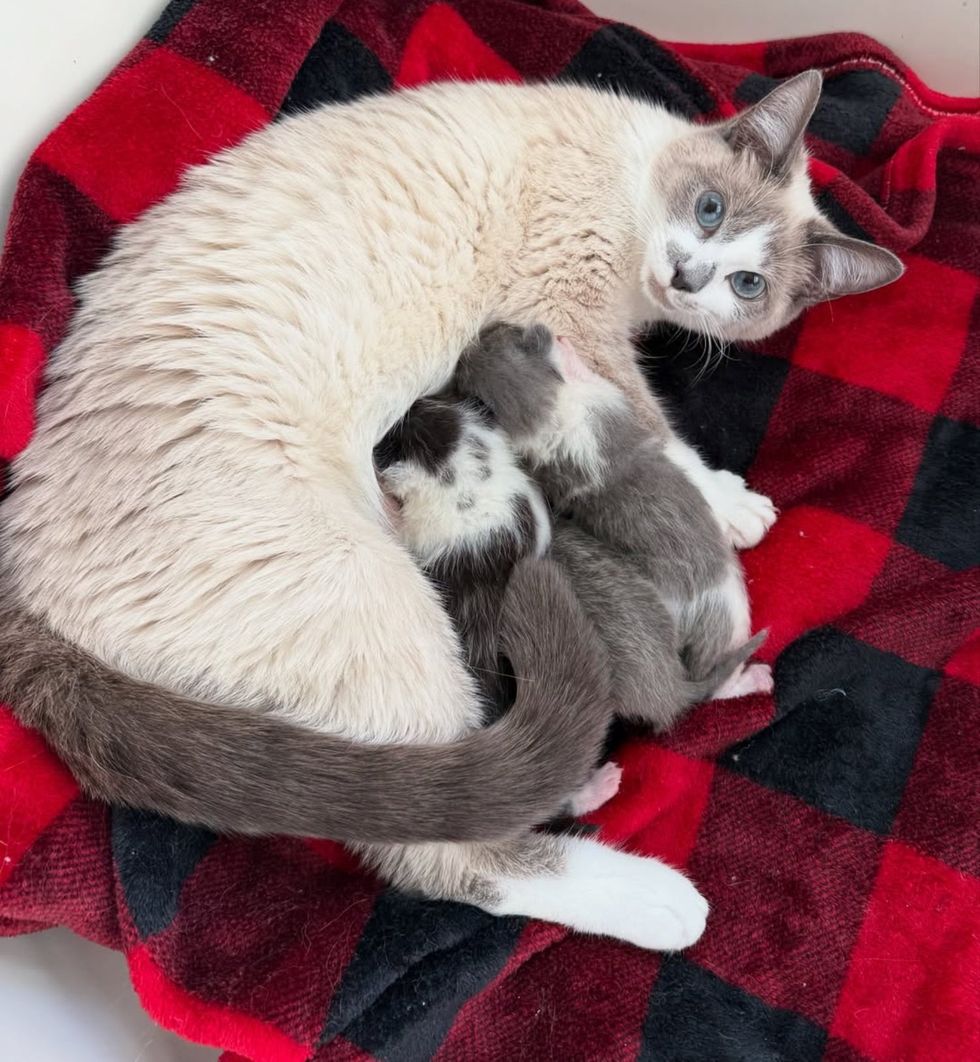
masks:
[[[803,133],[820,100],[822,84],[816,70],[790,78],[726,122],[722,136],[736,151],[757,155],[770,173],[786,173],[803,151]]]

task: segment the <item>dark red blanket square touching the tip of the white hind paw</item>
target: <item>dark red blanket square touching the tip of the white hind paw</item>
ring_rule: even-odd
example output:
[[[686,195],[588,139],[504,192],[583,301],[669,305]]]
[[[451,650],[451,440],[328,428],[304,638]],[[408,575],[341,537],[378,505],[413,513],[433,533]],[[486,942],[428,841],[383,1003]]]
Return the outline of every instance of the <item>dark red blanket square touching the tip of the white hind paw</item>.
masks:
[[[690,862],[711,914],[688,958],[773,1007],[826,1025],[880,843],[719,768]]]

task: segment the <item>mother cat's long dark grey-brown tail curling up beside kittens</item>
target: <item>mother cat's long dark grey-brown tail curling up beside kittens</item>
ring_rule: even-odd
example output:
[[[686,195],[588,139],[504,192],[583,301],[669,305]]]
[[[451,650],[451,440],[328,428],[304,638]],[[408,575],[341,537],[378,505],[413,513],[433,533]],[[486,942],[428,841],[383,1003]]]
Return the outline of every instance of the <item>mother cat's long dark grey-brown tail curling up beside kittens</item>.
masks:
[[[519,565],[503,649],[518,695],[447,744],[363,744],[131,679],[0,598],[0,699],[89,794],[234,834],[492,840],[553,816],[609,720],[605,654],[558,569]]]

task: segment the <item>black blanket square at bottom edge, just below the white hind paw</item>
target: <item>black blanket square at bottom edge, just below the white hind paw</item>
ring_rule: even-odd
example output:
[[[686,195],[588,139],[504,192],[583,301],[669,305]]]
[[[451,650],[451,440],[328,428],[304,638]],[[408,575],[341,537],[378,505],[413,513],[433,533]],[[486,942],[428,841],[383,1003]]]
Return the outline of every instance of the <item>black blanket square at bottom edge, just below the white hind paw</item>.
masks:
[[[824,1030],[801,1014],[672,955],[650,995],[639,1062],[816,1062],[825,1041]]]

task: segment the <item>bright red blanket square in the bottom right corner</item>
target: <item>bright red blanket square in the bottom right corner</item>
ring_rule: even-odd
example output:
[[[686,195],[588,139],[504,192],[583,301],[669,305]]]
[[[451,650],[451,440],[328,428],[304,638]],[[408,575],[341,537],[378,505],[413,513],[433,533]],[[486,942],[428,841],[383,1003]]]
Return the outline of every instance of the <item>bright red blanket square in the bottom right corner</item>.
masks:
[[[872,1059],[980,1058],[980,881],[884,850],[830,1030]]]

